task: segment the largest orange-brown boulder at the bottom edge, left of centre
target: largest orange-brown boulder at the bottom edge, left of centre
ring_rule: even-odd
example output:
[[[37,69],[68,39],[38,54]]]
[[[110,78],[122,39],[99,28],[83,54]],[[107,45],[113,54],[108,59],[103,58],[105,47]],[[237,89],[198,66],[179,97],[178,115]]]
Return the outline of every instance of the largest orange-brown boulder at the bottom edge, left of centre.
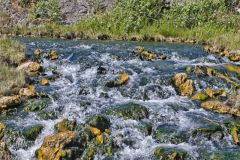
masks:
[[[38,160],[77,159],[83,152],[76,133],[60,132],[47,136],[40,149],[37,150]]]

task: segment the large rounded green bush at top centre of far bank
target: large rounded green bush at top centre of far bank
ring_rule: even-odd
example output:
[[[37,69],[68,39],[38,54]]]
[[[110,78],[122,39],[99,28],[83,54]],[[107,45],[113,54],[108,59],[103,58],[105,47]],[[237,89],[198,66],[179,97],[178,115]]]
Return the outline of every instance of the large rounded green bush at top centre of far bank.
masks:
[[[112,13],[113,26],[127,33],[139,31],[162,16],[165,0],[118,0]]]

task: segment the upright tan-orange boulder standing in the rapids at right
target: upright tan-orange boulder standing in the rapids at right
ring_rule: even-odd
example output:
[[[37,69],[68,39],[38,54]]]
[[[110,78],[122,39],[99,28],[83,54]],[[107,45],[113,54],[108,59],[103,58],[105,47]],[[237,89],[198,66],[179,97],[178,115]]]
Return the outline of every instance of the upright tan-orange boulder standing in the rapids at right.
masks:
[[[173,80],[181,96],[192,96],[194,92],[194,83],[193,80],[188,78],[186,73],[176,74]]]

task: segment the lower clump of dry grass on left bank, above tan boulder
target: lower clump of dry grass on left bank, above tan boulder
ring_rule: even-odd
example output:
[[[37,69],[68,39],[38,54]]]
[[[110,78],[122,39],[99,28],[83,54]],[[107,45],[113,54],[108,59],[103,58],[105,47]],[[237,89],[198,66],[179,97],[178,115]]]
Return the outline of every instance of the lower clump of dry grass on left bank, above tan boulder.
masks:
[[[0,64],[0,95],[9,95],[14,87],[22,87],[24,84],[24,71],[17,71],[4,63]]]

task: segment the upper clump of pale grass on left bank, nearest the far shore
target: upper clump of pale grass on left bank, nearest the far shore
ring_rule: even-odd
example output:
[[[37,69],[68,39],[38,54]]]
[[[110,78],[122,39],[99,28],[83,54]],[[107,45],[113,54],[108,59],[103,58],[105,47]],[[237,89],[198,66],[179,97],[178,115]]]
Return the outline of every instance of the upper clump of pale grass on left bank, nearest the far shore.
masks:
[[[25,47],[17,41],[0,38],[0,61],[18,65],[25,59]]]

